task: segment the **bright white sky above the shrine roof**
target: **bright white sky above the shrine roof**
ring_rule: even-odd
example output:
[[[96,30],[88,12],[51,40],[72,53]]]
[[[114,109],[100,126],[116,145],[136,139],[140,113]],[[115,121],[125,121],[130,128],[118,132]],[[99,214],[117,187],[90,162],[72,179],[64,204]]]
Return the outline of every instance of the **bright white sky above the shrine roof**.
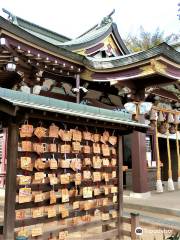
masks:
[[[180,0],[0,0],[0,9],[75,38],[99,23],[113,9],[123,38],[137,34],[142,25],[153,32],[157,27],[165,35],[180,33]],[[4,14],[0,10],[0,15]]]

